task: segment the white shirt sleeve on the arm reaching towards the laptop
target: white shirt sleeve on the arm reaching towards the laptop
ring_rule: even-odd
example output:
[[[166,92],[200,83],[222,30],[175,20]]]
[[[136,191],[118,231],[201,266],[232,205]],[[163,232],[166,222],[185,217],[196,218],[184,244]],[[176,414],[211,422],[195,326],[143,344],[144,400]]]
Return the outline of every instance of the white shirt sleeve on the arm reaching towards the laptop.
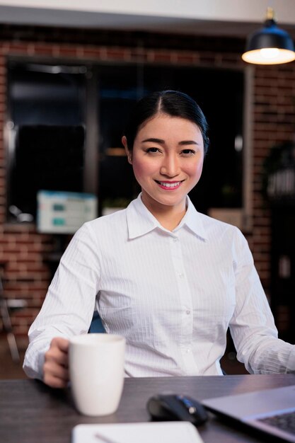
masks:
[[[240,231],[234,246],[236,309],[230,330],[237,358],[250,374],[295,373],[295,345],[277,338],[270,305]]]

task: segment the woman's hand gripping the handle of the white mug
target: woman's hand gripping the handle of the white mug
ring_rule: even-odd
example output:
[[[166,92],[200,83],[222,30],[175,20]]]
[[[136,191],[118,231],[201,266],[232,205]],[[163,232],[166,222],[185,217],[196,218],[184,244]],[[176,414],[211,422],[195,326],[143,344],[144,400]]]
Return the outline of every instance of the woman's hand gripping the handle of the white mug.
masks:
[[[52,388],[65,388],[69,381],[68,369],[69,340],[56,337],[45,352],[43,381]]]

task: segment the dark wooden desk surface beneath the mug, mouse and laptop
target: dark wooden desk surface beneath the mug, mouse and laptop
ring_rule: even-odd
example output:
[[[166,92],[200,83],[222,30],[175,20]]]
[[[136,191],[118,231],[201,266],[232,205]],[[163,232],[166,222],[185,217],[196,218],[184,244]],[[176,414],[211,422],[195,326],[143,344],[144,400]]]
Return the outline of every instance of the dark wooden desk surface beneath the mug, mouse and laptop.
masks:
[[[155,393],[184,393],[203,398],[260,391],[295,384],[295,375],[228,375],[125,379],[115,414],[88,418],[76,412],[71,393],[50,389],[35,380],[0,381],[0,442],[70,443],[71,429],[80,423],[147,422],[146,401]],[[230,426],[214,415],[199,427],[205,443],[270,442],[264,435]],[[140,442],[139,442],[140,443]]]

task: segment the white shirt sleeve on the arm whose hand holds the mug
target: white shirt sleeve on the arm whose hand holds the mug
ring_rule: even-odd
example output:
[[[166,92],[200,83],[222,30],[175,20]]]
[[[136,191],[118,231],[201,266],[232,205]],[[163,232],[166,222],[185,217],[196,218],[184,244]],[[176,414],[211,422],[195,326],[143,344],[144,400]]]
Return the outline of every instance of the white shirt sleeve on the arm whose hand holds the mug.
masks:
[[[42,379],[45,352],[54,337],[87,333],[99,291],[100,260],[96,238],[88,224],[76,232],[60,260],[40,313],[30,330],[23,369]]]

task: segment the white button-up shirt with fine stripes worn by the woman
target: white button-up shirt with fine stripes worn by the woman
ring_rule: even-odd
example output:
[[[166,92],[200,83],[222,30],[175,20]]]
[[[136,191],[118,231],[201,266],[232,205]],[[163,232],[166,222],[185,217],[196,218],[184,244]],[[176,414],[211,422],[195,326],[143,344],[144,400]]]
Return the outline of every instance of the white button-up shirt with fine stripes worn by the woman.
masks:
[[[228,328],[249,372],[295,372],[241,231],[189,198],[172,232],[140,195],[76,232],[30,328],[25,372],[42,378],[52,338],[86,333],[95,306],[127,340],[127,376],[222,374]]]

